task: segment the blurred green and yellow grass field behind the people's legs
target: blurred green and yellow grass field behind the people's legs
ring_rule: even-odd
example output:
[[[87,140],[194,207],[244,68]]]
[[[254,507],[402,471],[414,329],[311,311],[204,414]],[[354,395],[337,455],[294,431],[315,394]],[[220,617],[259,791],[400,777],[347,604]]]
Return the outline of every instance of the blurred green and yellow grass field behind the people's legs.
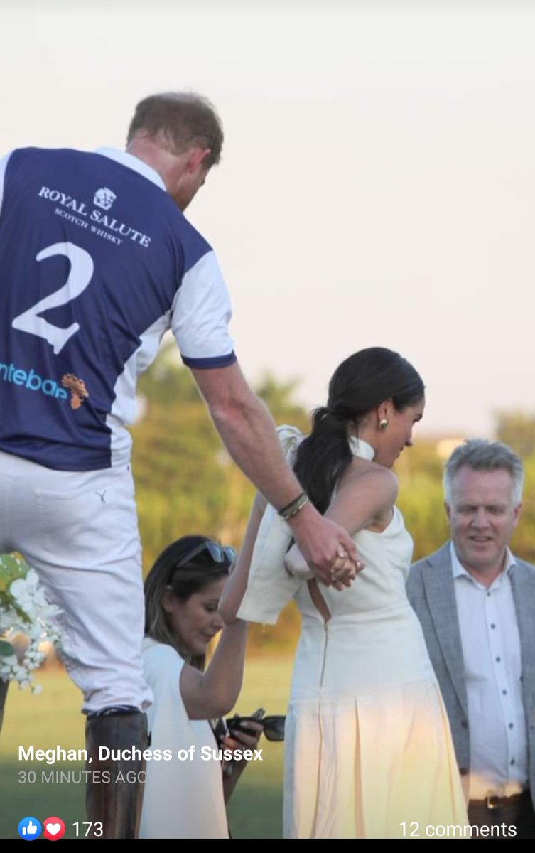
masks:
[[[262,705],[268,714],[285,713],[291,678],[288,659],[248,660],[244,688],[236,705],[250,714]],[[37,677],[43,693],[32,695],[11,685],[0,735],[0,838],[18,838],[17,825],[26,816],[58,816],[65,838],[76,838],[72,824],[85,820],[84,785],[48,782],[51,770],[82,770],[83,763],[20,762],[19,746],[36,749],[83,748],[81,694],[60,670]],[[233,793],[228,815],[233,838],[281,838],[283,744],[262,739],[262,763],[251,763]],[[35,773],[35,777],[32,775]],[[26,775],[23,775],[26,774]],[[180,803],[177,803],[180,808]]]

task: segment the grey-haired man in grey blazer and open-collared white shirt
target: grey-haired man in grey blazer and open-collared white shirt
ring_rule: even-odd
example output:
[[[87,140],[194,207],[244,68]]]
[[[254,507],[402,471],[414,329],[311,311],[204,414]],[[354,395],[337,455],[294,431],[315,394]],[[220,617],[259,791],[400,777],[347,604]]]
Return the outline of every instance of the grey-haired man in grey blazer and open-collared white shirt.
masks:
[[[478,837],[535,838],[535,566],[509,550],[523,479],[505,444],[457,447],[444,475],[451,542],[407,582]]]

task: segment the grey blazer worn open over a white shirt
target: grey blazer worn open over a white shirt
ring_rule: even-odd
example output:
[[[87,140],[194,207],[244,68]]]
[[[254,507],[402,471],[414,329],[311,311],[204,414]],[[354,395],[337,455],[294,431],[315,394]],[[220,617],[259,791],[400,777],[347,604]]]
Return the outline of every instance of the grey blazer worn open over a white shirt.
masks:
[[[535,566],[516,559],[511,584],[521,637],[529,779],[535,804]],[[469,772],[470,765],[470,725],[476,725],[477,721],[468,718],[450,543],[411,567],[407,594],[422,624],[429,657],[450,718],[457,763],[464,775]]]

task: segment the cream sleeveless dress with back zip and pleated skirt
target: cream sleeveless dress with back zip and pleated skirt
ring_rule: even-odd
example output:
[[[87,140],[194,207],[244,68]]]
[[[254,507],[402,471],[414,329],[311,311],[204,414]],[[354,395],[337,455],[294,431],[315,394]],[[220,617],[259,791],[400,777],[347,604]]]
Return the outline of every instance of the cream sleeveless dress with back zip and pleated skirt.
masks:
[[[351,447],[373,458],[369,444]],[[302,633],[286,719],[285,838],[440,837],[468,819],[446,710],[406,597],[412,540],[394,508],[386,530],[360,531],[354,542],[366,566],[351,587],[319,583],[327,622],[306,581],[294,592]]]

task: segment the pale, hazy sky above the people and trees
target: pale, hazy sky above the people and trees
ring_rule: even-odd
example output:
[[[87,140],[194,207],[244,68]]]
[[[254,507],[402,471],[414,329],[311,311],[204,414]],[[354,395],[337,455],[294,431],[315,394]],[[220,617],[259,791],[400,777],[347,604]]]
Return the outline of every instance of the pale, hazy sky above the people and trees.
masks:
[[[250,380],[312,408],[383,345],[423,375],[422,433],[535,410],[535,4],[3,0],[0,27],[0,153],[122,148],[158,90],[215,103],[187,217]]]

